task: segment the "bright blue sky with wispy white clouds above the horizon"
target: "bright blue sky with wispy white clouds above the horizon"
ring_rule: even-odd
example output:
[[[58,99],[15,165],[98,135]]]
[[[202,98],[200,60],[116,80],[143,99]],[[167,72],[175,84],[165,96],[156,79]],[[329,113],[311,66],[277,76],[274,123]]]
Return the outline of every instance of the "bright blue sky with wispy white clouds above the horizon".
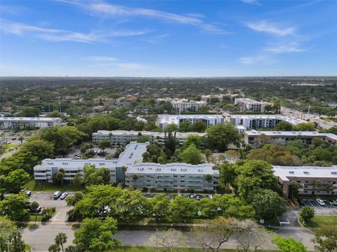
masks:
[[[337,75],[337,1],[0,1],[1,76]]]

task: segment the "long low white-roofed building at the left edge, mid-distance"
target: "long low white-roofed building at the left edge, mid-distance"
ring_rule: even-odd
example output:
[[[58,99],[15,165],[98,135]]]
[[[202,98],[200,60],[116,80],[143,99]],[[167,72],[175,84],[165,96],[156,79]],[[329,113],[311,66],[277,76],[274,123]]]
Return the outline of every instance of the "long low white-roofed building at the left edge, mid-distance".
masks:
[[[12,117],[2,117],[0,118],[0,128],[1,129],[22,129],[26,127],[54,127],[62,123],[61,118],[12,118]]]

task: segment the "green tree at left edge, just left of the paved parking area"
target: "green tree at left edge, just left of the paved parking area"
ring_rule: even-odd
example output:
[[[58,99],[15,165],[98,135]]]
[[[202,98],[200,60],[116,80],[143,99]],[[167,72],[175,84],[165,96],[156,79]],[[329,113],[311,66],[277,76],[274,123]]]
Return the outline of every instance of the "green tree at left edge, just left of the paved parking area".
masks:
[[[11,221],[25,221],[28,216],[27,196],[8,194],[0,201],[1,215],[8,216]]]

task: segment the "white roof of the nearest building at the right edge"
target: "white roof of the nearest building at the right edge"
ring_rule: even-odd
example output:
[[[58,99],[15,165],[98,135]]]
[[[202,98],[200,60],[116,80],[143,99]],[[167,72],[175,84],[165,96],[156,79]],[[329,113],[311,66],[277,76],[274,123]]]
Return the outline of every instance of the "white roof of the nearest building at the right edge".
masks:
[[[337,179],[337,165],[332,167],[273,166],[273,169],[275,176],[278,176],[282,181],[289,181],[289,177]]]

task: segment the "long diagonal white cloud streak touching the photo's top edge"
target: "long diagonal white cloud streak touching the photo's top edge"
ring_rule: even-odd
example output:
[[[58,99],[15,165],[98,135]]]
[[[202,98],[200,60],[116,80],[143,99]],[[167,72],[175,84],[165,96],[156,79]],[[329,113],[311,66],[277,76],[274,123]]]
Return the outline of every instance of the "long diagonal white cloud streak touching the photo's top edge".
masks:
[[[100,14],[105,17],[131,17],[131,16],[143,16],[146,18],[158,18],[169,22],[178,22],[184,25],[193,25],[199,27],[212,34],[225,34],[225,30],[216,27],[216,25],[210,25],[204,22],[204,16],[200,13],[192,13],[187,15],[180,15],[176,13],[169,13],[161,10],[154,10],[150,8],[128,8],[125,6],[105,3],[103,1],[68,1],[59,0],[64,3],[72,3],[81,8],[86,8],[92,13]]]

